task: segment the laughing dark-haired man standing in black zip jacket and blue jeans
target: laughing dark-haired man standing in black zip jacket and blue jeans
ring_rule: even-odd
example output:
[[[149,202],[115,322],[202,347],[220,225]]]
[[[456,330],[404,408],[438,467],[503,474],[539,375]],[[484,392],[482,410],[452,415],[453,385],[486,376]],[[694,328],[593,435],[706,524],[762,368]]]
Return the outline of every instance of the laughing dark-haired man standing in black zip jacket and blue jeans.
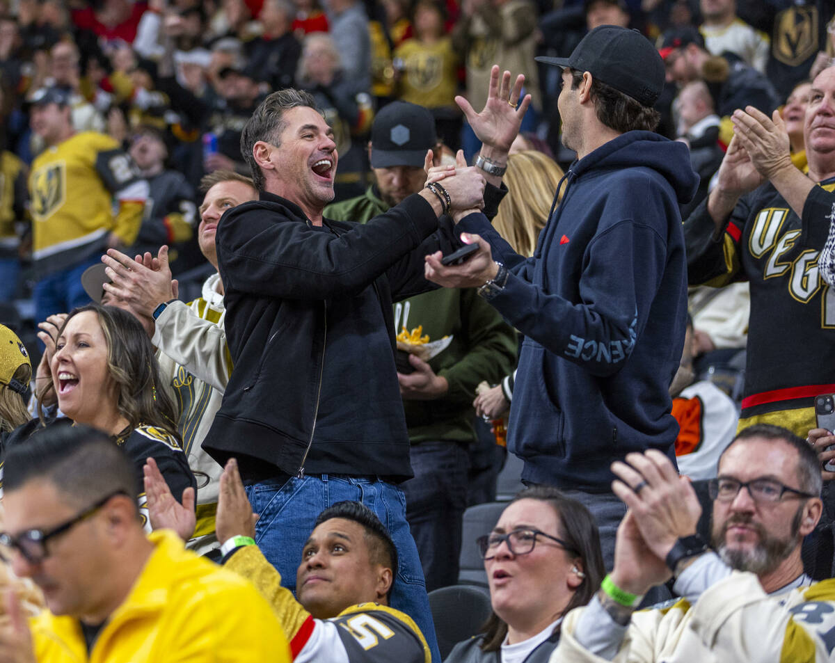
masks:
[[[203,447],[221,463],[239,459],[261,516],[257,543],[288,589],[322,509],[341,500],[371,508],[401,559],[392,607],[412,616],[437,659],[423,572],[395,485],[412,469],[392,298],[431,287],[423,256],[447,253],[457,241],[448,219],[438,231],[438,216],[481,205],[483,178],[451,168],[443,189],[410,195],[366,225],[323,219],[336,144],[311,96],[294,89],[256,109],[241,152],[261,197],[218,226],[235,371]]]

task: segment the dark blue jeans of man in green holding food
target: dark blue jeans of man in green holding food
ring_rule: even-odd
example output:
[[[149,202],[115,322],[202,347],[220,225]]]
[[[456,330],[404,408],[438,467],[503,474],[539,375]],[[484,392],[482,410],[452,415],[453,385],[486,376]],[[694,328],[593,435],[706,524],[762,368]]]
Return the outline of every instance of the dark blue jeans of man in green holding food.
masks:
[[[402,484],[406,519],[423,564],[427,591],[458,582],[461,521],[467,508],[467,449],[452,442],[423,442],[410,450],[412,472]]]

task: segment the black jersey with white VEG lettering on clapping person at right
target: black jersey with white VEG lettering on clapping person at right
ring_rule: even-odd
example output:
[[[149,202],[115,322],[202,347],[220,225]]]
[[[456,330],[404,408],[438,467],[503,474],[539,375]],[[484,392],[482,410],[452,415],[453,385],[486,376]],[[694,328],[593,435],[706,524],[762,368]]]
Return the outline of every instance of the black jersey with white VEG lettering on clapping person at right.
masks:
[[[831,190],[835,180],[822,186]],[[718,240],[706,201],[685,222],[691,285],[751,286],[741,425],[772,412],[811,408],[817,394],[835,392],[835,291],[817,268],[829,230],[827,200],[832,196],[815,187],[800,219],[766,184],[742,196]],[[795,425],[784,414],[782,425],[805,438],[808,419]]]

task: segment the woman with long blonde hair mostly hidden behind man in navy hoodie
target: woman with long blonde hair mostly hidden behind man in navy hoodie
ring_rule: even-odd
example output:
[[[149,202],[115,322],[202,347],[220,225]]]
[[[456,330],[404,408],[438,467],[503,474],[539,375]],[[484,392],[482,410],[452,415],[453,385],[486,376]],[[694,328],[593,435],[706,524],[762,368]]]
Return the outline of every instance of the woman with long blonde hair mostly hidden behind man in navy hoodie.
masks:
[[[554,205],[554,191],[563,176],[563,169],[554,159],[536,149],[510,154],[508,170],[503,178],[508,194],[498,205],[493,228],[520,256],[534,255],[539,232],[548,222]],[[557,203],[562,197],[562,192],[559,192]],[[478,393],[473,407],[479,417],[493,420],[507,414],[513,397],[515,375],[514,371],[504,377],[501,384]]]

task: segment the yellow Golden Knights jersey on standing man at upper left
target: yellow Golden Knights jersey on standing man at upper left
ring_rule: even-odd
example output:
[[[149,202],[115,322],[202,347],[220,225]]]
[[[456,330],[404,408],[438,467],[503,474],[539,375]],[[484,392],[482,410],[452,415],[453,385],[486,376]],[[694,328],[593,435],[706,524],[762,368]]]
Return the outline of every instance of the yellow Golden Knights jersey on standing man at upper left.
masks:
[[[47,276],[103,252],[111,232],[132,244],[148,183],[114,139],[85,131],[38,155],[29,197],[33,262]]]

